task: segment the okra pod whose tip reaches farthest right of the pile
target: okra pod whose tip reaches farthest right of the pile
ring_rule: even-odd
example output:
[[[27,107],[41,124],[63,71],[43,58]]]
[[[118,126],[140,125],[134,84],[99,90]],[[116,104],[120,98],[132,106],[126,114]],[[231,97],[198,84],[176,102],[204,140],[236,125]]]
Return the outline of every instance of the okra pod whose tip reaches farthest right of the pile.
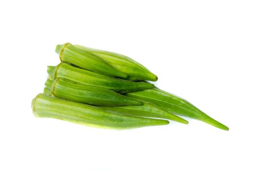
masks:
[[[215,119],[212,119],[211,117],[197,109],[197,107],[195,107],[190,102],[187,102],[186,100],[180,97],[177,97],[171,93],[165,92],[158,88],[126,93],[125,96],[138,100],[152,102],[174,114],[193,119],[198,119],[206,123],[209,123],[217,128],[226,131],[229,130],[227,126],[221,124]]]

